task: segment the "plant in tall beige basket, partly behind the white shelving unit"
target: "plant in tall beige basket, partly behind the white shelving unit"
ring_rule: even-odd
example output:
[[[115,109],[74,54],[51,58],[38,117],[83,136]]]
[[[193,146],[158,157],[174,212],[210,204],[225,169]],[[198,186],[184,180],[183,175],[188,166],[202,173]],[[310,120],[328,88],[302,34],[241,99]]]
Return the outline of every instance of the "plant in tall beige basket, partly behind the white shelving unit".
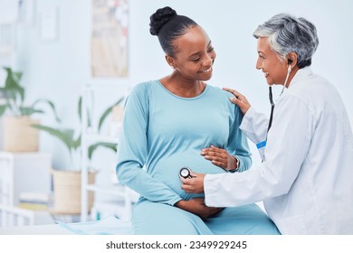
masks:
[[[110,115],[112,109],[119,105],[122,100],[123,98],[119,98],[117,102],[105,109],[100,116],[98,132],[100,132],[103,122]],[[81,98],[79,99],[78,108],[78,114],[81,120]],[[89,115],[90,113],[88,112],[88,116]],[[90,117],[88,118],[87,125],[91,126]],[[52,212],[66,214],[81,213],[81,132],[75,133],[74,129],[59,129],[43,125],[33,125],[33,127],[43,130],[51,136],[57,137],[62,144],[67,147],[72,161],[72,168],[69,170],[52,170],[54,185],[54,206]],[[117,145],[118,143],[116,142],[96,142],[91,144],[88,148],[88,160],[91,161],[94,151],[100,146],[108,148],[116,153]],[[89,183],[94,183],[95,174],[95,170],[89,172]],[[93,192],[89,192],[88,200],[88,210],[91,210],[94,201]]]

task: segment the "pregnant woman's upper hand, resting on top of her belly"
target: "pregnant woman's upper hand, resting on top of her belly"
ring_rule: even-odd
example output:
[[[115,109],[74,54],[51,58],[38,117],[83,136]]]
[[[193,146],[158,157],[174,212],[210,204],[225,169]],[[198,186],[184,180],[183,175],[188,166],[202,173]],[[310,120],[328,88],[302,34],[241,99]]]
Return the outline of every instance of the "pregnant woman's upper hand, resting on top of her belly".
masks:
[[[201,150],[201,155],[204,155],[205,159],[224,170],[235,170],[237,168],[235,157],[229,155],[229,153],[223,148],[210,145],[210,147]]]

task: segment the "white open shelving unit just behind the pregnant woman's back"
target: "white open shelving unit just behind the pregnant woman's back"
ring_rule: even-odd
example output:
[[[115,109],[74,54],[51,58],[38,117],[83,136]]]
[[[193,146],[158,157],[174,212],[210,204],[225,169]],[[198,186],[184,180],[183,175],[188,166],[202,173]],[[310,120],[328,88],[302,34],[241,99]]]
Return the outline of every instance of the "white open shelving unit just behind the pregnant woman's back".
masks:
[[[93,219],[100,219],[100,213],[108,212],[108,208],[104,207],[113,205],[114,208],[118,208],[119,205],[124,213],[119,218],[129,220],[132,203],[137,199],[134,192],[116,180],[117,155],[115,152],[101,147],[100,150],[96,150],[91,159],[88,158],[91,145],[100,142],[118,144],[121,126],[121,118],[119,117],[122,117],[119,107],[124,105],[124,100],[119,103],[118,115],[110,114],[109,117],[106,117],[103,125],[100,125],[100,117],[119,98],[126,98],[128,94],[129,85],[119,82],[111,85],[97,84],[83,87],[81,106],[81,221],[88,219],[90,211],[87,210],[87,197],[90,191],[95,193],[92,208],[95,215],[91,215]],[[113,120],[114,117],[118,118]],[[88,171],[91,168],[97,171],[94,184],[87,183]]]

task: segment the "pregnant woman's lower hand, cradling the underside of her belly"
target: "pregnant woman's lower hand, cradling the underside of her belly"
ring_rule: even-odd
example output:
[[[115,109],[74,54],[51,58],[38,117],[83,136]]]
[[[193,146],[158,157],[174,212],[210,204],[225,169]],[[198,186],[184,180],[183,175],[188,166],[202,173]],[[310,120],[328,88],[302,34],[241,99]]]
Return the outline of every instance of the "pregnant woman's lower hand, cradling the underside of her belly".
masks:
[[[195,198],[188,201],[178,201],[176,202],[176,207],[192,212],[202,219],[215,215],[218,211],[222,210],[222,208],[206,206],[205,200],[202,198]]]

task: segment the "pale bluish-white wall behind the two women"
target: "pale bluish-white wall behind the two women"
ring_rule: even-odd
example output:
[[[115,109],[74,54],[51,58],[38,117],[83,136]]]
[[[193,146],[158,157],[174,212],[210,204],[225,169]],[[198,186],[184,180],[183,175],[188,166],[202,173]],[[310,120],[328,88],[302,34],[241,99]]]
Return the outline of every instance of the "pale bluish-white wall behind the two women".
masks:
[[[63,125],[77,122],[76,105],[81,85],[119,80],[91,79],[90,0],[37,0],[33,27],[20,29],[16,67],[24,71],[29,100],[52,98],[64,119]],[[267,85],[262,72],[255,70],[256,41],[253,30],[274,14],[300,15],[315,23],[320,45],[312,69],[331,80],[339,89],[353,122],[353,4],[349,0],[298,1],[211,1],[211,0],[130,0],[129,83],[158,79],[170,69],[164,60],[157,37],[148,32],[149,16],[157,8],[170,5],[178,14],[193,18],[211,37],[217,59],[210,84],[232,87],[243,92],[255,108],[268,112]],[[59,38],[43,42],[39,37],[40,19],[48,7],[59,10]],[[0,14],[4,10],[0,10]],[[45,118],[51,123],[51,118]],[[77,123],[78,124],[78,123]],[[43,136],[42,149],[54,153],[54,166],[62,167],[66,151],[49,136]],[[259,163],[254,155],[255,164]]]

